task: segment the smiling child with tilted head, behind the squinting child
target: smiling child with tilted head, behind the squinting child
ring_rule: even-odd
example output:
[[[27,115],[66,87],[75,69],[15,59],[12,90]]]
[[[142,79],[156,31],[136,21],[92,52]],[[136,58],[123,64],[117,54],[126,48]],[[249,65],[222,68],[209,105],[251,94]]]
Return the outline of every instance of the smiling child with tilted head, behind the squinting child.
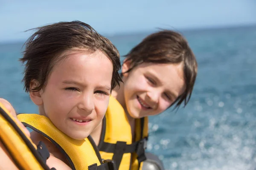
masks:
[[[197,62],[184,37],[168,30],[149,35],[125,57],[124,83],[112,92],[116,99],[110,99],[101,135],[94,135],[96,128],[92,137],[103,159],[113,159],[120,170],[138,170],[146,159],[147,116],[189,102]]]

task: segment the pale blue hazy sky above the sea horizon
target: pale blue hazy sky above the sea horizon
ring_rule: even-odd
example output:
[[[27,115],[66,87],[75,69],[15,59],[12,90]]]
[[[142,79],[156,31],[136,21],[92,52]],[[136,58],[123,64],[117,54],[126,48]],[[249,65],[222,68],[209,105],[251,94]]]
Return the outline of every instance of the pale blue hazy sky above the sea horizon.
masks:
[[[256,24],[256,0],[0,0],[0,42],[26,40],[27,29],[71,20],[104,35]]]

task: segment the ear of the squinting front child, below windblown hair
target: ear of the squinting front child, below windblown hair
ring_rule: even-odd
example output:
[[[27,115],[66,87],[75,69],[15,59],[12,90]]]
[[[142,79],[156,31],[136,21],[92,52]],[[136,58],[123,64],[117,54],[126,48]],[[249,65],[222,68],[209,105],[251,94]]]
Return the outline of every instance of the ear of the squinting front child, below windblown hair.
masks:
[[[38,85],[39,85],[39,83],[37,80],[35,80],[35,79],[31,80],[30,85],[29,85],[29,90],[38,87]],[[42,91],[42,89],[40,91],[30,91],[29,92],[30,99],[35,103],[35,105],[38,105],[38,106],[43,105],[43,100],[41,98],[41,91]]]

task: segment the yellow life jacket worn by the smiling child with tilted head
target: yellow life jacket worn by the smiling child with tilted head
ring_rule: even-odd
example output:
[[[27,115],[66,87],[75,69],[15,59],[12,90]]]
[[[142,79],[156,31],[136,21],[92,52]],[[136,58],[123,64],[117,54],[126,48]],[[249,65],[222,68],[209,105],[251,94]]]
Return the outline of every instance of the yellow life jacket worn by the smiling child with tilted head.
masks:
[[[98,145],[102,158],[113,159],[119,170],[139,170],[146,159],[147,138],[148,117],[136,119],[136,142],[133,142],[131,126],[122,105],[110,97]]]

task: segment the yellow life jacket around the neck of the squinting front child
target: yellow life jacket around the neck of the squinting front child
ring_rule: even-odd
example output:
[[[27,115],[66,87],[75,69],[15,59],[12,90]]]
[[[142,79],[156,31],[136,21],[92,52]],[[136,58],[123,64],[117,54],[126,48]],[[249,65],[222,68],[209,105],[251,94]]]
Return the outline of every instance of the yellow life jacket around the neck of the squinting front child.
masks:
[[[111,160],[102,161],[93,139],[76,140],[58,130],[46,117],[38,114],[19,114],[20,122],[49,139],[64,154],[73,170],[115,170]],[[99,166],[98,166],[99,165]]]

